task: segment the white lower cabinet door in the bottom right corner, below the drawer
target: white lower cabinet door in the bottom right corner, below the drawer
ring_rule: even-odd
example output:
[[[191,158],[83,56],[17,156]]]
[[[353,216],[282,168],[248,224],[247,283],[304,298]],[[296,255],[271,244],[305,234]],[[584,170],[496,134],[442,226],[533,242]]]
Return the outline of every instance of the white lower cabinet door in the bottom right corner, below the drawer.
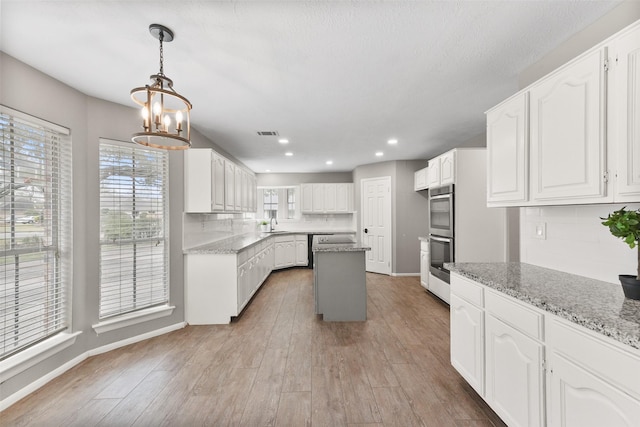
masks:
[[[549,364],[549,427],[638,425],[640,401],[590,371],[551,352]]]

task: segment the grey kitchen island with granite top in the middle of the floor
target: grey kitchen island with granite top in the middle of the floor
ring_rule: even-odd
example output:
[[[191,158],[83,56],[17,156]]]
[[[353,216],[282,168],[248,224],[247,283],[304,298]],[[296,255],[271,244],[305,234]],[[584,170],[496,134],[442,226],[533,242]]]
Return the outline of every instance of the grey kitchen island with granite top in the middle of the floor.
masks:
[[[325,321],[367,320],[364,253],[371,248],[348,236],[315,236],[312,250],[316,314]]]

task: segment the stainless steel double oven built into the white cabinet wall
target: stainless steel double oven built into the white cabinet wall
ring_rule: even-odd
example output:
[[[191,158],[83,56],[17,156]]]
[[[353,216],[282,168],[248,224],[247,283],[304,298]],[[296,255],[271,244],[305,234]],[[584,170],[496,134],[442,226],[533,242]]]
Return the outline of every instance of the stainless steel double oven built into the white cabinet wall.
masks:
[[[449,270],[454,261],[454,192],[453,184],[429,189],[429,271],[449,283]]]

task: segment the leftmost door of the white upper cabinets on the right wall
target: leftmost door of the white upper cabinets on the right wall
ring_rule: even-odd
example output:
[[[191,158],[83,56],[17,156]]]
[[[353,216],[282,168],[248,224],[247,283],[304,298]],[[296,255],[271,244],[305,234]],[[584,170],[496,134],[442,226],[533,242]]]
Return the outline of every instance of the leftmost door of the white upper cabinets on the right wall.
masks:
[[[487,204],[521,206],[529,198],[528,93],[487,112]]]

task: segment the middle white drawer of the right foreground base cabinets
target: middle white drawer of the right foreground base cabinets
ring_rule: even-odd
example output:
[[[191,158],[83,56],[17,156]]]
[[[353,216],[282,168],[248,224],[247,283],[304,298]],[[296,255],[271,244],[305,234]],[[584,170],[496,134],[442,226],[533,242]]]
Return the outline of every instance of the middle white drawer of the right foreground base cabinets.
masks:
[[[487,290],[485,294],[484,303],[487,312],[496,318],[511,325],[523,334],[542,340],[542,325],[544,322],[542,313],[490,290]]]

